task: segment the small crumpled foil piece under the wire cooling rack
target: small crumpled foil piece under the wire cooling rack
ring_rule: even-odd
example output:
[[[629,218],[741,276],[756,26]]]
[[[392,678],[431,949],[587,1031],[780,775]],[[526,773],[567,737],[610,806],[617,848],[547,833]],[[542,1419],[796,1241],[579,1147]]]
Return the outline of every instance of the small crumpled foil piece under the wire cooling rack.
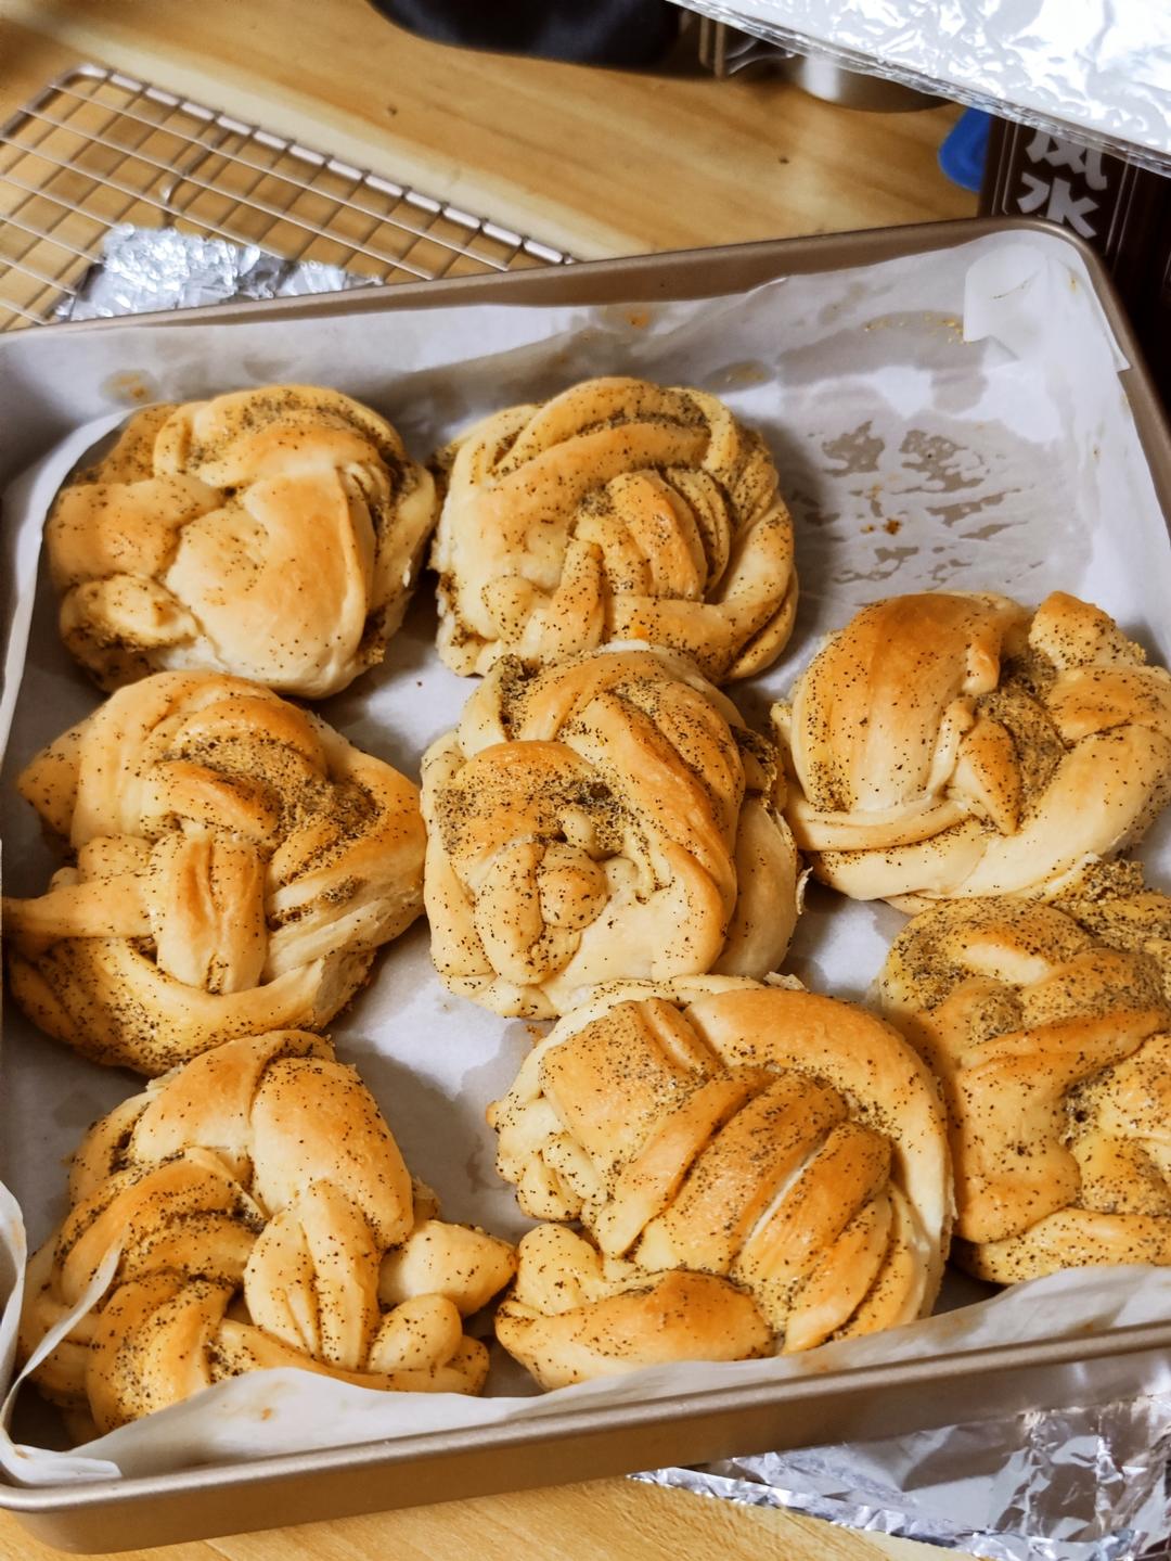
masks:
[[[56,317],[101,320],[240,298],[340,292],[373,281],[320,261],[285,261],[254,244],[235,245],[175,228],[120,223],[106,236],[101,261],[90,267],[76,295],[61,303]]]

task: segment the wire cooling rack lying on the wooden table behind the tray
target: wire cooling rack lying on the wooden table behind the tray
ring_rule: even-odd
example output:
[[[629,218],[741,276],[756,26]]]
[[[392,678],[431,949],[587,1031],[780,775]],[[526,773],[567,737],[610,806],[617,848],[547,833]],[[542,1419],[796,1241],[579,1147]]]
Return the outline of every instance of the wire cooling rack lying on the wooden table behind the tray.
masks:
[[[569,261],[368,169],[86,64],[0,128],[0,331],[51,320],[123,222],[384,283]]]

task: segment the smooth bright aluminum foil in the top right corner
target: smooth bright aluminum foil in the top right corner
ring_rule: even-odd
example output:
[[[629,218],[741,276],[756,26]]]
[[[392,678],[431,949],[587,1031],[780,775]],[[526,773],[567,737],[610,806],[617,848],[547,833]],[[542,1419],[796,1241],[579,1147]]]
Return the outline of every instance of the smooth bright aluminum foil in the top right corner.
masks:
[[[798,55],[1171,170],[1166,0],[677,0]]]

